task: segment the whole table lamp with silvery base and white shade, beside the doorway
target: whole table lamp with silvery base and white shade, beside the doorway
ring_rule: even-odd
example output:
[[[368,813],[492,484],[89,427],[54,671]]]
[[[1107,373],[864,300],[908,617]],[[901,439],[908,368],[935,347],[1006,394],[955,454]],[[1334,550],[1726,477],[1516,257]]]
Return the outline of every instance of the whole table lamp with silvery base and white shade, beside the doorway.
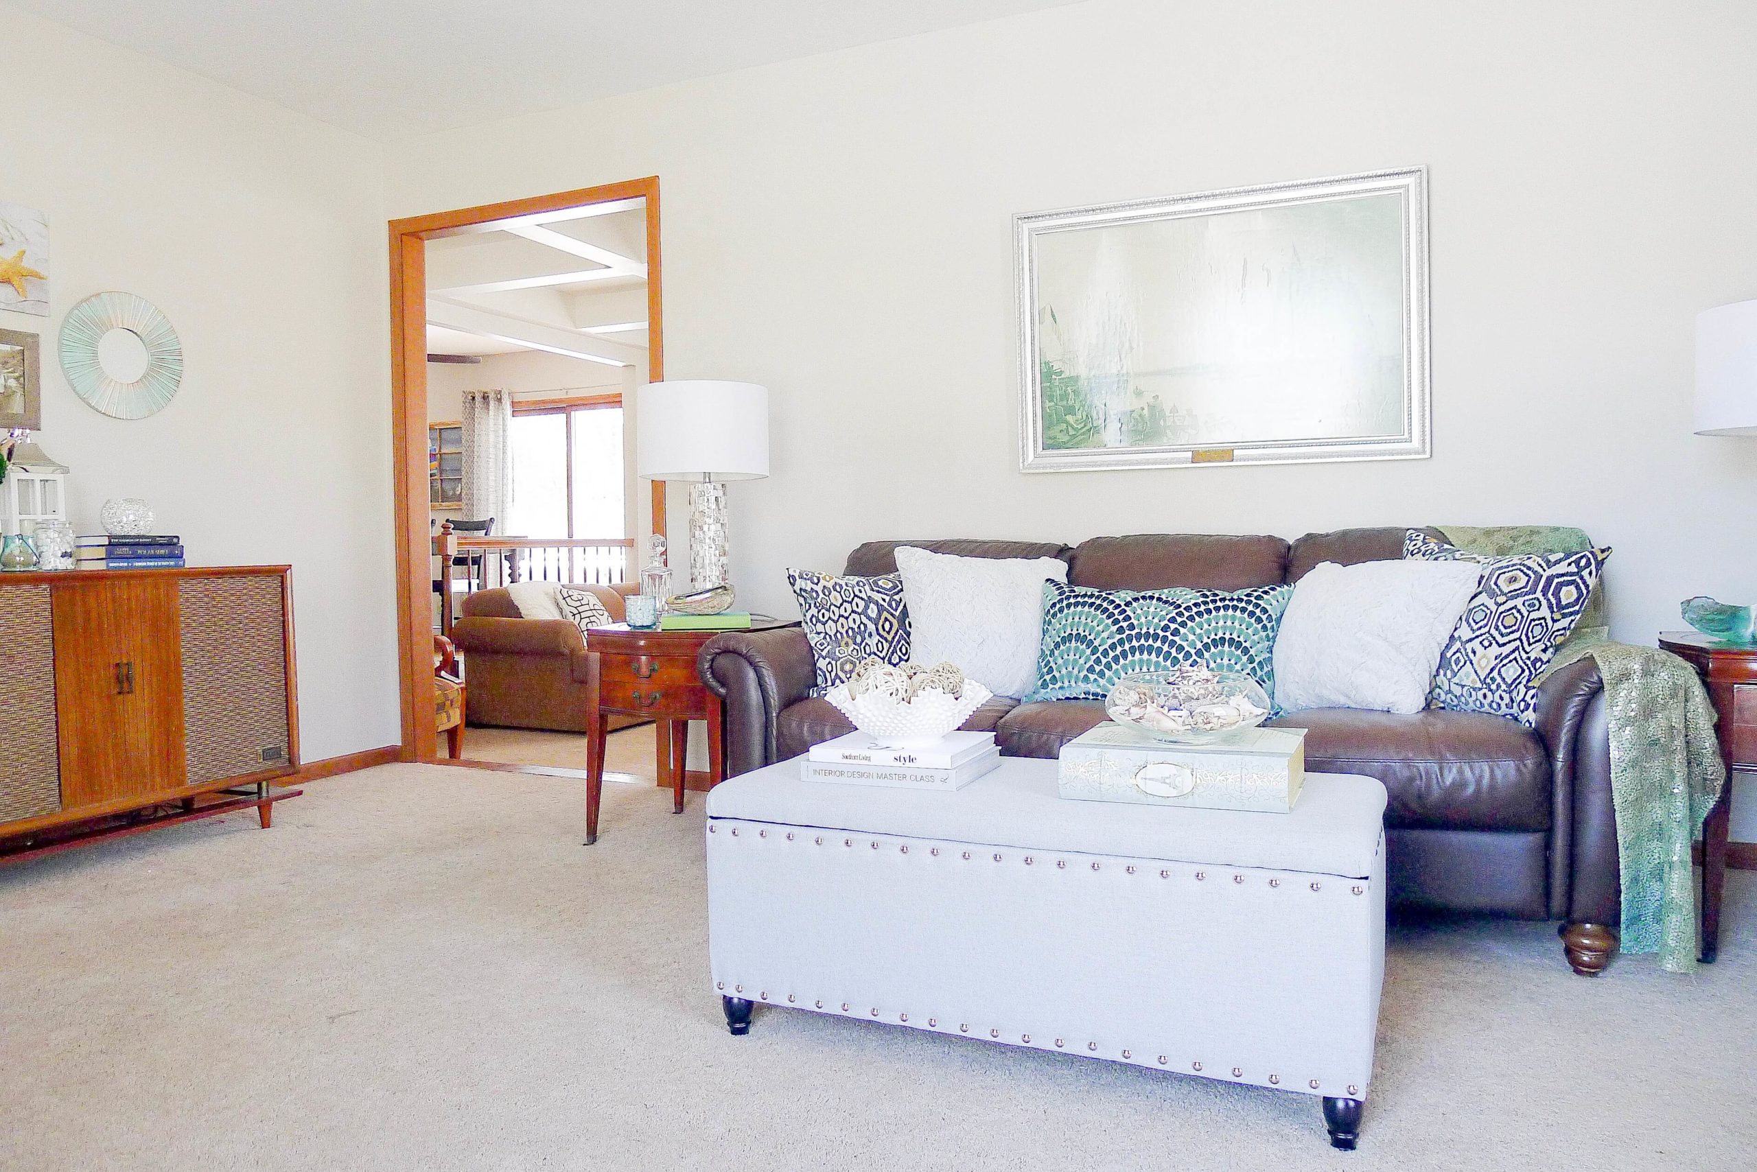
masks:
[[[726,481],[768,476],[768,388],[719,380],[648,383],[636,399],[641,480],[687,480],[689,576],[726,583]]]

